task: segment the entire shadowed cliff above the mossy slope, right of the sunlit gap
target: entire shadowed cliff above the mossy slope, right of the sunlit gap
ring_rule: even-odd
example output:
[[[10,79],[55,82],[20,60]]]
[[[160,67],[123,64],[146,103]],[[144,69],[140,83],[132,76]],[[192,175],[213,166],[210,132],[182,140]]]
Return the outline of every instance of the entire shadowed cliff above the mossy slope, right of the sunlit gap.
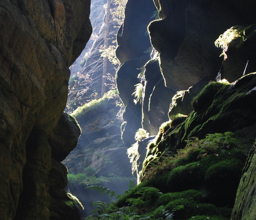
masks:
[[[154,1],[159,19],[155,17],[155,20],[148,25],[154,48],[151,50],[153,58],[144,66],[145,69],[141,70],[142,78],[136,78],[139,70],[131,70],[133,66],[131,58],[133,62],[139,62],[138,56],[142,57],[142,53],[138,50],[143,44],[136,44],[136,49],[133,49],[132,35],[137,36],[136,42],[138,38],[146,37],[138,35],[135,26],[130,27],[129,16],[133,16],[135,12],[131,13],[128,10],[133,1],[130,0],[128,3],[127,22],[125,20],[117,37],[119,44],[117,57],[121,63],[124,63],[117,72],[117,86],[120,97],[127,106],[124,114],[127,127],[122,128],[122,137],[127,146],[130,146],[131,142],[135,143],[133,135],[139,127],[146,129],[150,135],[157,134],[160,124],[167,121],[168,106],[172,103],[172,97],[176,92],[171,105],[179,105],[184,114],[189,114],[192,110],[190,105],[192,98],[209,81],[215,80],[219,72],[221,78],[233,82],[242,76],[248,60],[245,74],[255,71],[253,62],[250,63],[250,60],[255,59],[254,26],[248,25],[245,28],[245,36],[242,36],[243,46],[237,48],[230,45],[224,58],[220,57],[221,49],[214,45],[218,37],[228,28],[255,23],[255,17],[249,10],[249,7],[254,7],[254,3],[218,0]],[[240,5],[243,5],[242,8],[249,13],[241,11]],[[126,28],[130,34],[127,34]],[[146,39],[144,41],[146,42]],[[135,56],[137,58],[134,58]],[[139,83],[142,83],[142,102],[137,102],[135,105],[132,94],[134,86]],[[189,89],[191,86],[193,88]],[[179,92],[180,90],[184,92]],[[170,114],[179,113],[177,108],[175,109],[176,111],[173,111],[171,106]],[[142,117],[140,117],[141,113]]]

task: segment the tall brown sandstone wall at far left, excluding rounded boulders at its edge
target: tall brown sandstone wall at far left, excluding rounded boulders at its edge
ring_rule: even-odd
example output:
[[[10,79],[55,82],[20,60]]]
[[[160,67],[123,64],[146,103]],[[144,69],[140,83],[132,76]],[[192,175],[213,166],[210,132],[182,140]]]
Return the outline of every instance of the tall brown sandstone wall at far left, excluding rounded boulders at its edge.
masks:
[[[80,0],[0,2],[3,219],[51,216],[48,134],[65,108],[68,67],[92,32],[89,9],[90,1]]]

